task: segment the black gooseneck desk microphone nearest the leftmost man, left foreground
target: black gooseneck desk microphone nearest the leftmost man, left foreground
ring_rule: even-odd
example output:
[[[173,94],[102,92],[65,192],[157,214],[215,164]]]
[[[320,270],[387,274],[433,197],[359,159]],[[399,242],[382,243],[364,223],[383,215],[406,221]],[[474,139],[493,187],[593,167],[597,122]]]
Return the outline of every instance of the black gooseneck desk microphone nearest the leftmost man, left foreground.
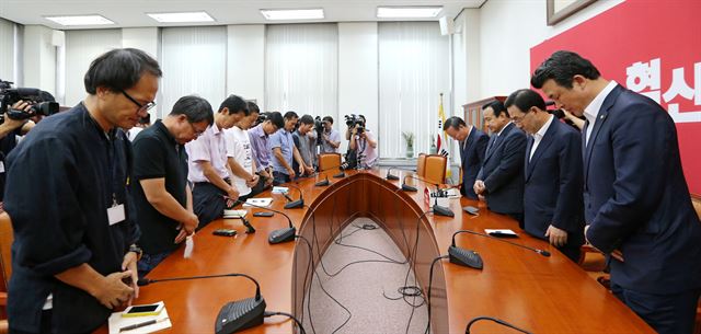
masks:
[[[237,301],[230,301],[225,304],[217,314],[217,321],[215,323],[215,332],[217,334],[230,334],[245,329],[257,326],[263,324],[263,318],[265,315],[265,299],[261,296],[261,286],[251,276],[245,274],[220,274],[220,275],[207,275],[207,276],[188,276],[188,277],[171,277],[171,278],[140,278],[137,285],[142,287],[152,283],[169,281],[169,280],[191,280],[200,278],[216,278],[216,277],[245,277],[255,284],[255,297],[246,298]]]

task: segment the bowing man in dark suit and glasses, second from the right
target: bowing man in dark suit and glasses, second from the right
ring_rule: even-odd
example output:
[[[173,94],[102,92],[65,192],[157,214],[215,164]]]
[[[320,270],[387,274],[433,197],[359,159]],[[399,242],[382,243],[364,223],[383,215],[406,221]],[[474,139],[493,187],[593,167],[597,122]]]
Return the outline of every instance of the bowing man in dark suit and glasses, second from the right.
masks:
[[[549,114],[535,91],[518,90],[504,105],[514,124],[530,135],[524,162],[524,228],[577,262],[584,243],[582,136]]]

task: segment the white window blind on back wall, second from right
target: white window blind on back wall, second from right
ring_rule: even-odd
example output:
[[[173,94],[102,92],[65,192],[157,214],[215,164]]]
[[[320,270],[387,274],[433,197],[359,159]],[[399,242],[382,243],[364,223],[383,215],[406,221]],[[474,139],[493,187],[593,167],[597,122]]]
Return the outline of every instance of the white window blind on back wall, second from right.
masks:
[[[268,25],[265,42],[265,111],[301,117],[337,115],[338,27]]]

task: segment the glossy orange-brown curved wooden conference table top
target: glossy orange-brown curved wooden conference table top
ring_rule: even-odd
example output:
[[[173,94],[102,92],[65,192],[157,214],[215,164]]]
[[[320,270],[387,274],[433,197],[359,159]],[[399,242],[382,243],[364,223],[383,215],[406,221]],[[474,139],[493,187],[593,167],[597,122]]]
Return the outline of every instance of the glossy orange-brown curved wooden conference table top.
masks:
[[[365,178],[364,192],[372,194],[378,185],[398,187],[400,181],[383,180],[386,170],[347,171],[344,180],[331,178],[336,171],[323,173],[335,183]],[[409,172],[393,171],[403,175]],[[409,175],[409,174],[406,174]],[[324,192],[331,187],[314,187],[323,180],[318,175],[301,178],[292,183],[303,192],[308,205],[303,209],[284,209],[286,203],[281,195],[263,193],[257,197],[273,197],[273,209],[287,214],[298,230],[303,230],[302,220],[310,208],[326,197]],[[371,181],[371,182],[369,182]],[[424,187],[420,181],[413,181],[420,191],[409,195],[418,208],[428,210]],[[433,187],[433,186],[429,186]],[[298,198],[296,189],[290,188],[290,197]],[[368,194],[359,194],[355,200],[368,200]],[[404,195],[402,195],[404,196]],[[370,196],[371,197],[371,196]],[[368,204],[384,205],[384,204]],[[470,216],[461,210],[471,205],[480,208],[479,216]],[[654,333],[612,293],[591,279],[582,268],[551,247],[545,241],[535,239],[518,228],[513,219],[490,212],[484,203],[451,199],[450,209],[455,218],[427,215],[430,233],[441,255],[446,255],[452,233],[469,229],[484,232],[484,229],[507,228],[519,234],[510,239],[519,244],[541,249],[552,253],[544,257],[535,252],[510,244],[472,234],[457,237],[457,245],[474,250],[484,261],[484,268],[475,270],[443,261],[445,290],[433,290],[434,297],[447,298],[447,315],[450,333],[464,333],[469,320],[480,316],[494,316],[525,329],[531,333]],[[238,219],[219,219],[198,231],[194,238],[195,247],[189,258],[183,258],[184,246],[180,247],[158,267],[148,278],[169,278],[198,275],[243,273],[258,280],[261,292],[267,304],[267,311],[292,312],[294,308],[294,262],[296,242],[269,244],[267,235],[276,229],[287,227],[285,217],[276,214],[271,218],[253,217],[263,209],[250,208],[246,218],[257,230],[245,234],[245,228]],[[212,235],[221,228],[235,229],[235,238]],[[300,243],[300,247],[306,245]],[[435,279],[435,278],[434,278]],[[211,333],[219,309],[229,301],[253,297],[255,287],[245,278],[222,277],[199,280],[164,281],[141,287],[138,303],[164,301],[173,326],[170,333]],[[299,295],[299,293],[298,293]],[[436,310],[440,312],[441,310]],[[444,312],[446,310],[443,310]],[[291,333],[291,321],[286,318],[266,318],[263,325],[241,333]],[[472,333],[506,333],[510,330],[491,322],[479,322]],[[106,325],[97,333],[106,333]]]

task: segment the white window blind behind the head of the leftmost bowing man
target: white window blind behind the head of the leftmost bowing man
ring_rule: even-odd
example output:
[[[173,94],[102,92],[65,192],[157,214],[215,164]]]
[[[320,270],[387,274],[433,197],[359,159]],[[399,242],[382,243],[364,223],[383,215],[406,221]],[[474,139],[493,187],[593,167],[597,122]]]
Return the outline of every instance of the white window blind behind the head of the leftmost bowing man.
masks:
[[[88,94],[83,78],[92,60],[120,47],[122,30],[118,28],[66,31],[65,105],[73,106]]]

